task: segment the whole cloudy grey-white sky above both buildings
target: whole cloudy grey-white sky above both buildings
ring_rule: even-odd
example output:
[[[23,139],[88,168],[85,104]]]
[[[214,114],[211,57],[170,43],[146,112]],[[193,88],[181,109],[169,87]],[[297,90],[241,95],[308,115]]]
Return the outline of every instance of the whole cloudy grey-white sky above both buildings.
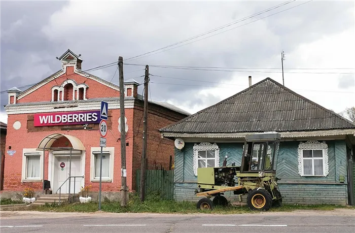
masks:
[[[335,112],[354,106],[354,1],[293,1],[265,12],[287,2],[1,1],[0,89],[50,76],[61,67],[55,57],[70,49],[82,54],[83,70],[119,56],[151,65],[150,97],[195,113],[247,88],[248,76],[282,83],[283,50],[285,86]],[[141,82],[143,69],[126,64],[125,79]],[[115,70],[91,73],[118,84]],[[0,98],[7,122],[7,93]]]

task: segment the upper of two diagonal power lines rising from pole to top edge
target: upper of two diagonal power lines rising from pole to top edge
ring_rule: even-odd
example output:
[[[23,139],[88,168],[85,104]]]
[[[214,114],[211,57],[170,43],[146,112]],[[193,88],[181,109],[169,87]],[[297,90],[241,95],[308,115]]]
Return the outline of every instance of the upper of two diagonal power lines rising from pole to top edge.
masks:
[[[150,53],[153,53],[153,52],[162,50],[162,49],[166,49],[166,48],[169,48],[169,47],[172,47],[172,46],[175,46],[175,45],[179,45],[179,44],[181,44],[181,43],[184,43],[184,42],[187,42],[187,41],[196,39],[196,38],[198,38],[198,37],[202,37],[202,36],[204,36],[204,35],[207,35],[207,34],[210,34],[210,33],[212,33],[212,32],[221,30],[221,29],[223,29],[223,28],[229,27],[229,26],[234,25],[234,24],[236,24],[236,23],[245,21],[245,20],[247,20],[247,19],[253,18],[253,17],[258,16],[258,15],[261,15],[261,14],[266,13],[266,12],[268,12],[268,11],[274,10],[274,9],[279,8],[279,7],[281,7],[281,6],[285,6],[285,5],[290,4],[291,2],[294,2],[294,1],[295,1],[295,0],[292,0],[292,1],[289,1],[289,2],[286,2],[286,3],[282,3],[282,4],[278,4],[278,5],[274,6],[274,7],[268,8],[268,9],[263,10],[263,11],[260,11],[260,12],[257,12],[257,13],[255,13],[255,14],[250,15],[250,16],[246,16],[246,17],[244,17],[244,18],[238,19],[238,20],[233,21],[233,22],[231,22],[231,23],[228,23],[228,24],[222,25],[222,26],[220,26],[220,27],[211,29],[211,30],[209,30],[209,31],[203,32],[202,34],[199,34],[199,35],[197,35],[197,36],[190,37],[190,38],[188,38],[188,39],[185,39],[185,40],[182,40],[182,41],[173,43],[173,44],[171,44],[171,45],[162,47],[162,48],[160,48],[160,49],[156,49],[156,50],[153,50],[153,51],[150,51],[150,52],[147,52],[147,53],[143,53],[143,54],[140,54],[140,55],[137,55],[137,56],[130,57],[130,58],[126,59],[126,60],[131,60],[131,59],[134,59],[134,58],[137,58],[137,57],[140,57],[140,56],[144,56],[144,55],[147,55],[147,54],[150,54]]]

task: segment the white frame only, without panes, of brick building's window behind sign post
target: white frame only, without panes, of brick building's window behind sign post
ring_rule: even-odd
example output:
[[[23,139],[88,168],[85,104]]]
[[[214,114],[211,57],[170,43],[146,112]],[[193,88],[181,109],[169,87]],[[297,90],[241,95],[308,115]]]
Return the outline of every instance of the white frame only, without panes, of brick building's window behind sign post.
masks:
[[[100,178],[95,178],[95,155],[100,155],[100,147],[91,147],[91,159],[90,159],[90,181],[99,182]],[[102,154],[110,154],[110,172],[109,178],[102,177],[102,182],[113,182],[114,178],[114,161],[115,161],[115,147],[102,148]]]

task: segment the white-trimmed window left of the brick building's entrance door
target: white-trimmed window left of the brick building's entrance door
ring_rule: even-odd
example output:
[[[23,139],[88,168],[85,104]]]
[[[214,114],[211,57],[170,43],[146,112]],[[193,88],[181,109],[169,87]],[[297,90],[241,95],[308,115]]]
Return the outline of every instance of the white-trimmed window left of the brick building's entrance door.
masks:
[[[43,178],[43,151],[23,149],[22,182],[40,182]]]

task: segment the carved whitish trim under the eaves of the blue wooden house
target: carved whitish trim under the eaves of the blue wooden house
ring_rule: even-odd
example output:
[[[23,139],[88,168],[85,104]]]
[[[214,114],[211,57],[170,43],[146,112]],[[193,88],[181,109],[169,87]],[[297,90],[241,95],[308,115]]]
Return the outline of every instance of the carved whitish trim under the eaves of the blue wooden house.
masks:
[[[355,129],[335,129],[335,130],[314,130],[309,132],[278,132],[281,138],[304,138],[304,137],[326,137],[326,136],[340,136],[353,135],[355,136]],[[162,132],[163,137],[171,138],[245,138],[246,135],[253,134],[253,132],[235,133],[235,134],[182,134]]]

